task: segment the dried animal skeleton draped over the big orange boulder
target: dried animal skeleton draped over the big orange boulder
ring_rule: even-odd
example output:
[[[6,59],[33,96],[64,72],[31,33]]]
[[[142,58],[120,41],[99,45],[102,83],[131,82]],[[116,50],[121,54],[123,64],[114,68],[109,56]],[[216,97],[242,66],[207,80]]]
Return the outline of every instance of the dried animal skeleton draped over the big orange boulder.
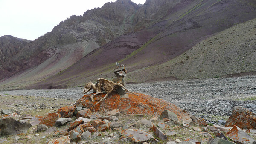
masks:
[[[98,104],[99,102],[101,102],[102,100],[104,100],[105,98],[107,98],[108,95],[109,95],[111,92],[116,91],[117,88],[118,88],[118,86],[124,88],[126,92],[130,92],[130,93],[132,93],[132,94],[134,94],[134,95],[137,95],[136,93],[131,92],[131,91],[129,91],[128,89],[126,89],[126,88],[125,88],[122,84],[120,84],[120,83],[114,83],[113,81],[109,81],[109,80],[106,80],[106,79],[104,79],[104,78],[98,78],[98,81],[99,81],[99,82],[98,82],[97,86],[95,86],[95,84],[93,84],[92,82],[89,82],[89,83],[85,84],[84,89],[83,89],[83,92],[82,92],[83,94],[86,94],[86,93],[89,92],[91,89],[96,90],[96,93],[93,94],[93,95],[91,95],[91,99],[92,99],[92,101],[94,102],[93,96],[102,93],[102,90],[101,90],[101,89],[102,89],[102,87],[103,87],[103,88],[105,89],[105,92],[106,92],[107,94],[105,95],[105,97],[103,97],[102,99],[100,99],[96,104]],[[138,95],[137,95],[137,96],[138,96]],[[96,105],[96,104],[94,104],[94,105]]]

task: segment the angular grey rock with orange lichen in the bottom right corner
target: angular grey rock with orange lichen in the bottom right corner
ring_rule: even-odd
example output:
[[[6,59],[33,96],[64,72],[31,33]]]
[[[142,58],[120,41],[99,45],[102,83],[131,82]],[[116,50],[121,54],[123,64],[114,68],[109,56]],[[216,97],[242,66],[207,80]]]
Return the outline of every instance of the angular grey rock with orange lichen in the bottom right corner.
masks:
[[[256,140],[254,140],[250,135],[245,133],[241,130],[238,126],[234,125],[234,127],[226,133],[227,137],[232,139],[237,143],[244,143],[244,144],[254,144]]]

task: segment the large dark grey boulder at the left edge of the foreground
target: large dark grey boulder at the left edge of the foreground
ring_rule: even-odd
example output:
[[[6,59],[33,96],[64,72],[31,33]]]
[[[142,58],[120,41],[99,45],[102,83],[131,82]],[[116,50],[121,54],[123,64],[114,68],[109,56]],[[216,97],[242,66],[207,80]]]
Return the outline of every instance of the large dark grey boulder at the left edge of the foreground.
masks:
[[[17,135],[27,133],[29,128],[32,127],[28,122],[20,123],[12,118],[3,118],[0,120],[1,135]]]

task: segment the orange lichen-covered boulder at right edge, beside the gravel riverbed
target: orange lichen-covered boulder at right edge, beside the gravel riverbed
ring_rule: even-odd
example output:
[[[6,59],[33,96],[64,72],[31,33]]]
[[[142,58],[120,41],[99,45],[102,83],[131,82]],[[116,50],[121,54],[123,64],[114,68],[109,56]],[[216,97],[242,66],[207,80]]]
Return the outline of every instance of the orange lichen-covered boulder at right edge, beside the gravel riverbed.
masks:
[[[241,129],[256,129],[256,114],[244,107],[233,107],[232,115],[226,122],[226,127],[234,125]]]

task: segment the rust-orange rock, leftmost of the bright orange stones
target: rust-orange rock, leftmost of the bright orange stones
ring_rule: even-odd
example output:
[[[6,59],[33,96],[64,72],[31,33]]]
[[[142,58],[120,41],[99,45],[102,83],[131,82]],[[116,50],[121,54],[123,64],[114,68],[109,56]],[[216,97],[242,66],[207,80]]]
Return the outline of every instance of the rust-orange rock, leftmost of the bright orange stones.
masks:
[[[59,113],[48,113],[39,124],[45,124],[47,127],[52,127],[59,118],[61,118],[61,114]]]

